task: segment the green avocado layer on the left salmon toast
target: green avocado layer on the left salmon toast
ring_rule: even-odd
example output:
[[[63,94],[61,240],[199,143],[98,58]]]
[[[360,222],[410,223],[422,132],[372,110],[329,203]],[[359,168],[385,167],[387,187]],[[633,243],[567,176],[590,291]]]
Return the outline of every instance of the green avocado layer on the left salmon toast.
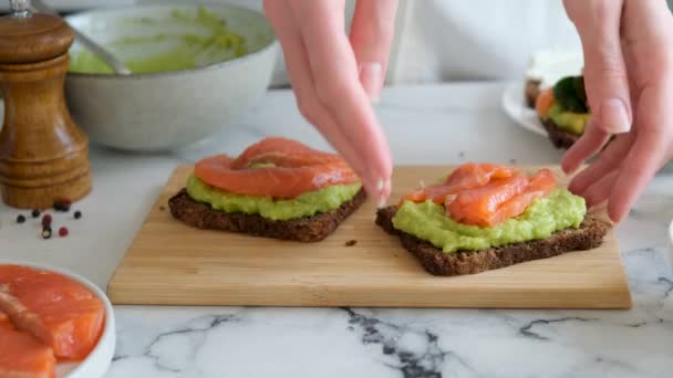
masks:
[[[271,220],[311,217],[317,212],[334,210],[351,200],[361,188],[361,183],[334,185],[303,193],[294,199],[273,199],[228,192],[214,188],[194,176],[187,179],[189,197],[209,203],[213,209],[259,214]]]

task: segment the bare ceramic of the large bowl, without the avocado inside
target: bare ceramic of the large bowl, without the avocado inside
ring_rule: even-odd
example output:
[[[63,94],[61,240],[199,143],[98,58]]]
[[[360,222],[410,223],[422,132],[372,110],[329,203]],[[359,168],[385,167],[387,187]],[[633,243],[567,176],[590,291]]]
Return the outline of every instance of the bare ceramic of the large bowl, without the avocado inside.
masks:
[[[226,127],[261,98],[271,80],[278,45],[268,21],[260,12],[240,7],[208,4],[206,8],[246,39],[247,55],[183,71],[128,76],[68,74],[68,105],[92,141],[130,150],[183,147]],[[197,7],[135,6],[87,11],[66,19],[105,45],[128,36],[156,35],[147,34],[156,33],[156,30],[128,20],[165,18],[175,10],[196,12]],[[161,28],[164,28],[161,33],[184,30],[178,23]],[[198,30],[194,32],[199,33]],[[108,48],[122,60],[147,53],[138,49]],[[71,52],[76,53],[80,49],[75,43]]]

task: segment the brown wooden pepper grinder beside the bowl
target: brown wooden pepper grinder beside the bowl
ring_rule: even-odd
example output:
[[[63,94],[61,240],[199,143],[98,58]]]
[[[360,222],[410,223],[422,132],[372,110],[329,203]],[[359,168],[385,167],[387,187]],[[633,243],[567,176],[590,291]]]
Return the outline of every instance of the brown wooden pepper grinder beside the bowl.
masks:
[[[63,85],[74,40],[60,18],[10,0],[0,18],[0,191],[12,207],[45,209],[91,191],[89,139],[73,123]]]

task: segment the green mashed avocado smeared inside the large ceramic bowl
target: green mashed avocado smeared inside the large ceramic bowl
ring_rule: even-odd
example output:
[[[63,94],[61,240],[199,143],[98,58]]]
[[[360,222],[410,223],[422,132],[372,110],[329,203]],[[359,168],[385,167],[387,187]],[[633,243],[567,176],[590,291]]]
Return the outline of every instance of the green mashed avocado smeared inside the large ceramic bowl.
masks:
[[[175,9],[161,19],[132,18],[124,21],[132,30],[146,29],[146,32],[108,42],[106,46],[117,53],[133,73],[189,70],[248,53],[246,39],[227,28],[219,14],[204,7],[196,12]],[[142,57],[124,59],[124,55],[138,56],[138,52]],[[113,73],[105,62],[87,50],[71,54],[70,71]]]

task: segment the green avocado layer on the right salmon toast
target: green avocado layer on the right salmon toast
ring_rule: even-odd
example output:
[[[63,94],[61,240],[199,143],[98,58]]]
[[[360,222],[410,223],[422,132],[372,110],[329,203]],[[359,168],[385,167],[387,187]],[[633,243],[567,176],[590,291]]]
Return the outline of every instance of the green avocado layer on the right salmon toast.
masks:
[[[493,228],[458,223],[446,216],[444,207],[433,201],[405,201],[393,217],[393,225],[431,242],[445,253],[453,253],[546,239],[556,231],[579,228],[586,213],[583,198],[567,189],[556,189],[535,200],[519,217]]]

